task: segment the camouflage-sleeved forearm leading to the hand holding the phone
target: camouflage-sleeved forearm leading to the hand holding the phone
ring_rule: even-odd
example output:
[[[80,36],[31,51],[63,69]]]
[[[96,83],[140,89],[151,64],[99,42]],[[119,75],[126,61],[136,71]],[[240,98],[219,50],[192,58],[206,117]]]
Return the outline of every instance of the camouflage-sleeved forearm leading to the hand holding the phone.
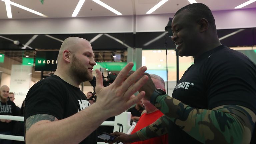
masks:
[[[168,133],[169,119],[163,115],[154,123],[136,132],[141,141]]]

